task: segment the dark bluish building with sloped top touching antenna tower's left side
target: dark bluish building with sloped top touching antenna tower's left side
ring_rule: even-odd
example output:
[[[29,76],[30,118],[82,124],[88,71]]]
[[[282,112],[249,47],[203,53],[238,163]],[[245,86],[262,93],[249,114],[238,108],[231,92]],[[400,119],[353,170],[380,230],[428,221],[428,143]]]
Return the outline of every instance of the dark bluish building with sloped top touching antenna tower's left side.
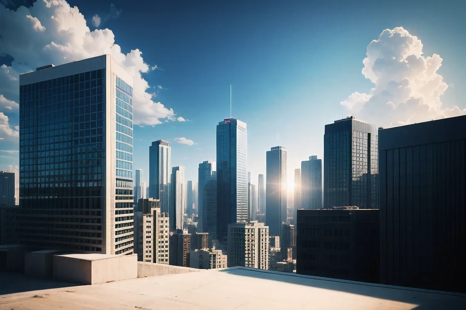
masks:
[[[204,185],[202,191],[202,223],[203,231],[208,232],[212,239],[217,238],[217,171]]]

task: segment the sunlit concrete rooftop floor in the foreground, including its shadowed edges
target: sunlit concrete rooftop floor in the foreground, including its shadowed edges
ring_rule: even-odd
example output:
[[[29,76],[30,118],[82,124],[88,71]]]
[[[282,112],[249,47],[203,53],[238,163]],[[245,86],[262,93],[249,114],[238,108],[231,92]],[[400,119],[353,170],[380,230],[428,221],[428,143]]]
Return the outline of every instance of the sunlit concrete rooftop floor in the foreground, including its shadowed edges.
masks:
[[[234,267],[79,285],[0,273],[7,310],[464,310],[466,295]]]

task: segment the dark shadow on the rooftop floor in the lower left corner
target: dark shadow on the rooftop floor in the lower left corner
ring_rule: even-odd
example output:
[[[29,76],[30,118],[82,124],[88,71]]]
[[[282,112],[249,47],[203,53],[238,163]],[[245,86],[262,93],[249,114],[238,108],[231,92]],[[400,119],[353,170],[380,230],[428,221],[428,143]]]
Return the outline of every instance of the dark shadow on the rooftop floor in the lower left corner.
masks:
[[[52,279],[27,277],[19,273],[0,272],[0,296],[35,290],[48,290],[80,286],[75,283],[58,282]]]

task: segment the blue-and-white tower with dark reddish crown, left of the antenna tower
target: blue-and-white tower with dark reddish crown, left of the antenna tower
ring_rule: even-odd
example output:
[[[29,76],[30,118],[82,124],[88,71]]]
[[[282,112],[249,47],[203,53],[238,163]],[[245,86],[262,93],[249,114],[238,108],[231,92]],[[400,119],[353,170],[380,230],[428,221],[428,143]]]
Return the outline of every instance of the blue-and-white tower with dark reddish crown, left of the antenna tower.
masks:
[[[161,212],[170,209],[171,147],[164,140],[152,142],[149,146],[149,196],[160,200]],[[170,214],[170,218],[172,218]]]

